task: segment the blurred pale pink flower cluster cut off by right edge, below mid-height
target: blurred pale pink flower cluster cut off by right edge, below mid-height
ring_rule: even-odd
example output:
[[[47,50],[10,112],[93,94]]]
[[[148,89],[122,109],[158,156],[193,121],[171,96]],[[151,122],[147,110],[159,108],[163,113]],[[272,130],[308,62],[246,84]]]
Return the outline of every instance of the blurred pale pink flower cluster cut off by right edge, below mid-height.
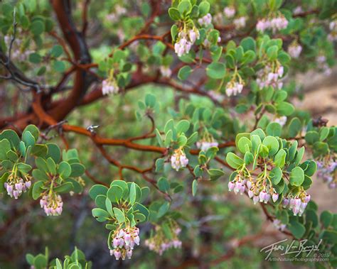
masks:
[[[317,177],[322,178],[328,183],[328,187],[335,189],[337,187],[337,162],[336,158],[327,156],[317,160]]]

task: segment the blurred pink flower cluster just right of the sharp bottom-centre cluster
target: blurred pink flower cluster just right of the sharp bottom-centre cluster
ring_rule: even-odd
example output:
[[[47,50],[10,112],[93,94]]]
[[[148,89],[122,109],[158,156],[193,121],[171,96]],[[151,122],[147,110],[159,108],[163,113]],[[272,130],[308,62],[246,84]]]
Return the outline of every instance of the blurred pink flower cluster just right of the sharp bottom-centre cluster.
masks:
[[[164,251],[169,248],[181,248],[181,241],[178,238],[178,234],[181,232],[181,228],[172,222],[169,225],[170,233],[172,238],[167,238],[161,226],[156,226],[154,236],[151,236],[145,241],[145,246],[147,246],[151,251],[155,251],[160,256],[163,255]]]

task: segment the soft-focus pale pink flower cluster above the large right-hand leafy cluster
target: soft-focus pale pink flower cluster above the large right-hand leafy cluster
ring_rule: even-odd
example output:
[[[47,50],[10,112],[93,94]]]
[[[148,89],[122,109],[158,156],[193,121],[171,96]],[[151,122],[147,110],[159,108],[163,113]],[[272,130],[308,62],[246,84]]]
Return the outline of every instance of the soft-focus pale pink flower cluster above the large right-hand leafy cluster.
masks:
[[[262,89],[264,87],[272,86],[276,89],[281,89],[283,83],[279,79],[284,74],[284,67],[282,65],[266,65],[262,70],[257,72],[256,82]]]

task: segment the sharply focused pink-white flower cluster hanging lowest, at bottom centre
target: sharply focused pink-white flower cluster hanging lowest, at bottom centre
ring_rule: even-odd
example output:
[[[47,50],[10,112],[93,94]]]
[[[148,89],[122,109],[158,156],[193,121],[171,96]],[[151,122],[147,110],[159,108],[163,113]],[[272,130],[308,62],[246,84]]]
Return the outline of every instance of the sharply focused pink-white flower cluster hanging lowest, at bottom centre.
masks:
[[[131,258],[134,245],[139,246],[139,228],[127,227],[124,229],[117,229],[112,235],[112,246],[114,249],[110,249],[110,255],[114,256],[116,260],[122,258]]]

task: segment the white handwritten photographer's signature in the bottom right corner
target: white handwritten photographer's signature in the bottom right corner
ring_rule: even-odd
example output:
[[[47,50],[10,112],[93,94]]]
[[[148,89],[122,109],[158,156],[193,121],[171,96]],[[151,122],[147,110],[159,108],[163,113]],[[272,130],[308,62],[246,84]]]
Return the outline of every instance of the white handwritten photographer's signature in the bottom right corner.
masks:
[[[278,241],[276,243],[272,243],[269,246],[266,246],[260,250],[260,252],[264,251],[264,253],[267,253],[267,258],[274,252],[274,251],[281,251],[281,256],[287,255],[287,254],[296,254],[295,257],[299,256],[301,253],[307,253],[306,257],[308,257],[313,251],[319,251],[319,246],[321,245],[322,239],[319,241],[317,245],[308,245],[305,246],[308,242],[307,239],[296,241],[293,240],[291,243],[287,243],[286,246],[282,245],[282,243],[288,241],[288,238],[285,238],[284,240]],[[299,243],[296,244],[296,242]]]

